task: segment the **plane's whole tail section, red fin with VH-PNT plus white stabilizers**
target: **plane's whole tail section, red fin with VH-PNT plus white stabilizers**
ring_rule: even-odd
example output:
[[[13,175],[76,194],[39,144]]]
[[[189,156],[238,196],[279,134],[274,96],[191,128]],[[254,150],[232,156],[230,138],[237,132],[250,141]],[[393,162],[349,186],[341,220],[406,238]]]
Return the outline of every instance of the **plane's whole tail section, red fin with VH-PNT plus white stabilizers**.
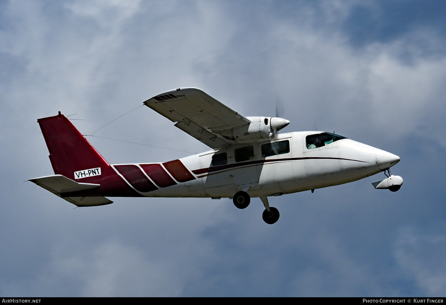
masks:
[[[64,199],[68,198],[66,200],[77,206],[111,203],[107,198],[84,201],[90,197],[142,196],[116,173],[60,111],[58,115],[39,119],[37,122],[50,151],[50,161],[56,175],[31,181]],[[64,177],[56,177],[58,175]],[[43,178],[45,179],[42,180]]]

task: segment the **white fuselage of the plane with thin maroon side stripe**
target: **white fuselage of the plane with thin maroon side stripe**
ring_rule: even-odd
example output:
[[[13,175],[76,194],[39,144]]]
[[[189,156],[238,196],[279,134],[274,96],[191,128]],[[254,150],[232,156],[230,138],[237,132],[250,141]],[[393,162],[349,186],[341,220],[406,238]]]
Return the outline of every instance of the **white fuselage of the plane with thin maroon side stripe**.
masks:
[[[185,157],[180,161],[194,180],[177,181],[176,185],[150,192],[135,190],[147,197],[231,198],[240,190],[251,197],[277,196],[356,181],[380,173],[400,160],[392,153],[350,139],[307,148],[306,136],[317,133],[320,132],[277,134],[269,141],[232,145]],[[289,141],[289,152],[262,157],[263,144],[285,140]],[[253,156],[236,161],[235,150],[248,146],[252,146]],[[212,156],[225,152],[227,163],[213,166]],[[135,165],[142,169],[140,164]]]

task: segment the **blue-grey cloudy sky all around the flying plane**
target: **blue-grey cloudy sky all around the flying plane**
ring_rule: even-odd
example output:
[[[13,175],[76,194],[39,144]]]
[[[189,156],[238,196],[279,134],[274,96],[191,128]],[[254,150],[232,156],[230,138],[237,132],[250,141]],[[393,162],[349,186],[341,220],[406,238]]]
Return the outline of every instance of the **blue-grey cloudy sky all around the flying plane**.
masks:
[[[444,296],[445,15],[442,0],[1,1],[0,295]],[[258,198],[73,209],[23,182],[53,174],[38,118],[77,113],[90,134],[178,87],[392,152],[404,185],[273,197],[267,225]],[[208,149],[148,107],[95,135],[177,149],[89,137],[110,163]]]

